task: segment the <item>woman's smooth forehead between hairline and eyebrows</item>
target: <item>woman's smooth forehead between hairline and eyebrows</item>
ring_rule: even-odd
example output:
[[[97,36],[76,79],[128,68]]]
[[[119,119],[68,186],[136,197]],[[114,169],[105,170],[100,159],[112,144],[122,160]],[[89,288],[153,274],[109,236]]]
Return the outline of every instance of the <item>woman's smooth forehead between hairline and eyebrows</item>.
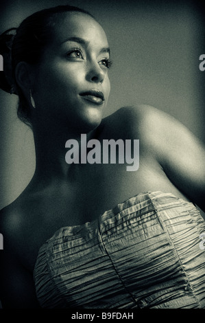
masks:
[[[85,41],[108,46],[103,28],[92,16],[81,12],[65,12],[55,24],[56,41],[63,43],[68,38],[83,38]]]

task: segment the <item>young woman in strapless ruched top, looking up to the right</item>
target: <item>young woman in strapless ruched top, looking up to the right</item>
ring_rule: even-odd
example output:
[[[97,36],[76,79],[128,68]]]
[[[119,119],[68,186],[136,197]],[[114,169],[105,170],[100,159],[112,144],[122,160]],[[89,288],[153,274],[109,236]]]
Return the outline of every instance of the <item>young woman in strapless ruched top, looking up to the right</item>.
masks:
[[[205,308],[199,140],[153,107],[102,119],[110,50],[84,10],[36,12],[1,35],[1,48],[1,88],[19,96],[36,147],[32,181],[1,210],[3,308]],[[68,140],[88,155],[90,140],[119,139],[139,140],[138,169],[65,160]]]

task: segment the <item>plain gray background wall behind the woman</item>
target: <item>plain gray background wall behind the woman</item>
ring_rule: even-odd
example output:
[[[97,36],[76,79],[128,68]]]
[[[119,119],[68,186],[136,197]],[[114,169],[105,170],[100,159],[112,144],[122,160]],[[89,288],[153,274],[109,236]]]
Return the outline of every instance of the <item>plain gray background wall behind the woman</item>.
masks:
[[[196,1],[7,0],[0,32],[33,12],[59,4],[90,11],[108,35],[114,65],[105,116],[130,104],[169,112],[205,142],[204,12]],[[16,118],[17,98],[0,90],[0,209],[12,202],[35,168],[32,132]]]

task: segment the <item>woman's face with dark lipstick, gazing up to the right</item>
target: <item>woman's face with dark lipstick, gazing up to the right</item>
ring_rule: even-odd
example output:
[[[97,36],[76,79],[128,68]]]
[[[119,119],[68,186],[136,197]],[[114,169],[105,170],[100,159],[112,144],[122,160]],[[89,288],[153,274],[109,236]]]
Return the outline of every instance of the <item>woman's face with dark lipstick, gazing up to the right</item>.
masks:
[[[84,13],[62,14],[34,72],[38,122],[59,120],[81,133],[99,125],[110,93],[109,58],[99,23]]]

